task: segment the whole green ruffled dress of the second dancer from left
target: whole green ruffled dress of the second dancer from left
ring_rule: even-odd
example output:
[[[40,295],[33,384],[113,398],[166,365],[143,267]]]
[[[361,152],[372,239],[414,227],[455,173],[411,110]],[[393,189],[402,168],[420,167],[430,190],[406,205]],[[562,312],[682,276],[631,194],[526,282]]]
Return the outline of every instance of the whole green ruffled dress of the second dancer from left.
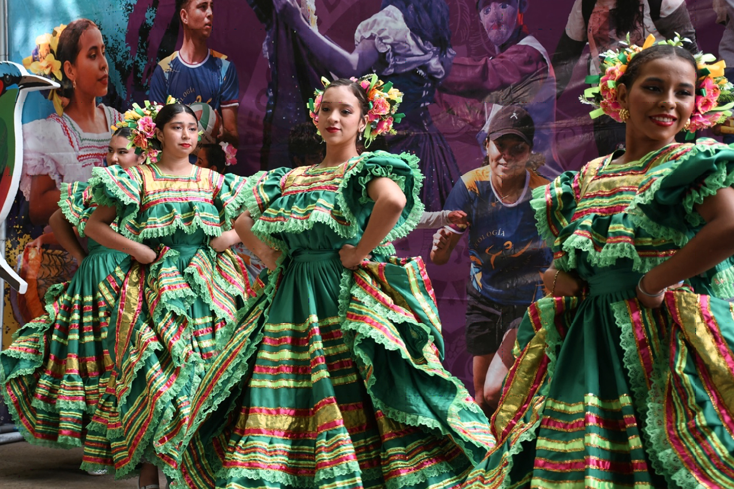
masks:
[[[188,176],[162,174],[154,163],[93,170],[96,202],[116,207],[120,233],[157,254],[149,265],[133,262],[107,278],[116,298],[108,334],[113,369],[89,430],[109,439],[116,477],[141,461],[175,477],[178,445],[171,441],[251,293],[242,260],[208,246],[244,210],[245,182],[197,166]]]

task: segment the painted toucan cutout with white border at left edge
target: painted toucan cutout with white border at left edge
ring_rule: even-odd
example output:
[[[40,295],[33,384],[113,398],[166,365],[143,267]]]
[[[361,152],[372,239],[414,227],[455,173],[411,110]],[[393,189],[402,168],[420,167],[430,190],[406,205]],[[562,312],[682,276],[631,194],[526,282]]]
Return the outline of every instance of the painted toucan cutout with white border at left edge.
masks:
[[[18,63],[0,62],[0,223],[5,223],[23,170],[21,115],[28,92],[59,88],[57,82],[33,75]],[[4,235],[4,233],[3,233]],[[0,256],[0,278],[23,294],[28,285]]]

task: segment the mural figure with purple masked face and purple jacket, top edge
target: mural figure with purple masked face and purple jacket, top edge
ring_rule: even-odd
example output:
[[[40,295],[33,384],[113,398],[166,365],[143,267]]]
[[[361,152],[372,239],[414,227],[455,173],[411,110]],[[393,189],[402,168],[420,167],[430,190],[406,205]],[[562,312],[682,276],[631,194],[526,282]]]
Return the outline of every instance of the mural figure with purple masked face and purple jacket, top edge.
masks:
[[[523,23],[529,0],[479,0],[476,9],[487,35],[490,56],[481,59],[454,58],[451,73],[440,92],[484,102],[477,127],[493,117],[502,106],[521,106],[535,123],[534,150],[545,156],[542,172],[555,176],[563,168],[557,161],[553,143],[556,121],[556,76],[548,51]],[[446,98],[444,106],[454,99]],[[461,104],[458,104],[461,105]],[[460,108],[457,107],[460,110]],[[482,132],[477,140],[487,138]]]

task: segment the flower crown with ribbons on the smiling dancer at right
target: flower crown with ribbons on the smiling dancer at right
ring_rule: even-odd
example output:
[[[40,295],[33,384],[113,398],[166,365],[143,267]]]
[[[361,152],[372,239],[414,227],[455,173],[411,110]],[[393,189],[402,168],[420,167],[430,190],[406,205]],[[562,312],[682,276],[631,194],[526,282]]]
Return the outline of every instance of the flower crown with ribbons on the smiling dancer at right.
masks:
[[[676,34],[672,40],[661,41],[657,44],[683,46],[683,41],[690,42],[686,38],[681,39]],[[653,34],[647,36],[641,48],[638,45],[630,44],[630,34],[627,34],[627,43],[625,44],[628,47],[619,51],[610,50],[600,54],[603,75],[586,77],[586,83],[598,84],[597,87],[586,89],[584,95],[579,97],[581,102],[597,107],[590,113],[592,119],[607,114],[617,122],[623,122],[622,117],[620,117],[622,106],[619,106],[617,102],[617,81],[625,73],[631,59],[636,54],[655,45],[655,36]],[[727,103],[724,106],[718,105],[719,97],[724,95],[724,100],[728,101],[733,89],[732,84],[724,77],[724,61],[716,62],[716,57],[713,54],[699,53],[694,55],[694,58],[698,66],[699,87],[696,90],[695,106],[691,114],[691,120],[686,127],[686,130],[688,130],[686,139],[693,139],[694,133],[699,129],[710,128],[724,122],[732,114],[730,109],[734,107],[734,103]]]

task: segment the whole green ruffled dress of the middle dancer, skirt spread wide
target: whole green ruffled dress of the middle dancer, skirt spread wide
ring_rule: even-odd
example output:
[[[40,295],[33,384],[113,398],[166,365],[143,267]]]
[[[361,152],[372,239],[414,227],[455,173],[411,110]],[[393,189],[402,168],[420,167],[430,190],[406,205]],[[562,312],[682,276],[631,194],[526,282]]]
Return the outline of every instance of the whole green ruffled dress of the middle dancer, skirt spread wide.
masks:
[[[340,166],[248,180],[259,238],[283,251],[200,383],[181,460],[192,488],[453,488],[493,443],[487,419],[441,365],[435,296],[420,258],[390,240],[421,216],[413,155],[365,152]],[[357,271],[355,245],[395,181],[407,205]]]

